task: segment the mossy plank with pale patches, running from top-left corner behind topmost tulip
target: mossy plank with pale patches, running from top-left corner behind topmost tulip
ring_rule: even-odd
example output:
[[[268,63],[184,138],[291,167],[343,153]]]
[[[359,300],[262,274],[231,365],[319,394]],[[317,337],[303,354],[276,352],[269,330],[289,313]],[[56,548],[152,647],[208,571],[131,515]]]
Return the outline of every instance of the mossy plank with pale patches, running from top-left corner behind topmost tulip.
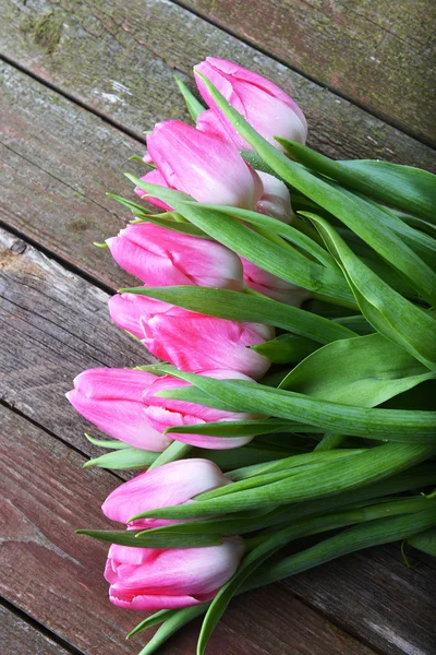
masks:
[[[191,74],[194,63],[214,55],[292,93],[316,150],[435,164],[428,147],[168,0],[1,0],[0,7],[8,24],[0,35],[3,56],[137,136],[156,121],[186,116],[172,73]]]

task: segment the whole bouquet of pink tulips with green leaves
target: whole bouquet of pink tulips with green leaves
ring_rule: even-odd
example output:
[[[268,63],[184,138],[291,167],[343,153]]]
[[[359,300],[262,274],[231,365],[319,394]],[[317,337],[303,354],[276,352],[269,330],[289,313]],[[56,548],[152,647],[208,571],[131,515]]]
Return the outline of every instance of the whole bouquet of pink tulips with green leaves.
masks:
[[[156,610],[142,655],[198,615],[203,654],[233,595],[358,549],[436,555],[434,176],[329,159],[268,80],[194,70],[208,108],[178,80],[195,127],[148,133],[105,245],[142,283],[110,315],[161,361],[68,394],[114,438],[87,465],[145,469],[102,505],[124,529],[78,531],[110,600]]]

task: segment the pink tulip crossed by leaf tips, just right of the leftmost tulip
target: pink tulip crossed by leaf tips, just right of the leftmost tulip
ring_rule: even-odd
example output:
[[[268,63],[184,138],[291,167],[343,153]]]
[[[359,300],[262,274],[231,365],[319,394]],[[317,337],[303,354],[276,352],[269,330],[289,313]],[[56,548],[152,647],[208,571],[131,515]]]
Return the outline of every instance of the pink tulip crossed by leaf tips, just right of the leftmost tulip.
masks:
[[[207,378],[214,378],[215,380],[231,379],[253,382],[251,378],[229,370],[205,371],[202,374]],[[157,395],[160,391],[180,389],[182,386],[190,386],[190,383],[170,376],[165,376],[164,378],[156,380],[144,393],[144,403],[146,405],[145,413],[150,425],[159,432],[165,432],[168,428],[179,426],[256,418],[254,414],[225,412],[222,409],[214,409],[213,407],[197,405],[196,403],[175,401],[172,398],[159,397]],[[190,443],[191,445],[211,450],[239,448],[253,439],[253,437],[205,437],[202,434],[177,433],[171,434],[171,437],[177,441],[183,441],[183,443]]]

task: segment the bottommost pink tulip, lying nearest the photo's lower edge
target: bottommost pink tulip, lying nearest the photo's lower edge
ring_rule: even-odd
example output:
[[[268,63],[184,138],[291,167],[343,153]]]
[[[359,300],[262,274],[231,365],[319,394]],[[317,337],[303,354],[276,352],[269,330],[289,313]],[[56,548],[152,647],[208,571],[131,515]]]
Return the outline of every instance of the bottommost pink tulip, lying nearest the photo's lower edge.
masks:
[[[206,548],[135,548],[112,545],[105,577],[109,598],[141,610],[198,605],[213,598],[234,574],[244,552],[241,537]]]

